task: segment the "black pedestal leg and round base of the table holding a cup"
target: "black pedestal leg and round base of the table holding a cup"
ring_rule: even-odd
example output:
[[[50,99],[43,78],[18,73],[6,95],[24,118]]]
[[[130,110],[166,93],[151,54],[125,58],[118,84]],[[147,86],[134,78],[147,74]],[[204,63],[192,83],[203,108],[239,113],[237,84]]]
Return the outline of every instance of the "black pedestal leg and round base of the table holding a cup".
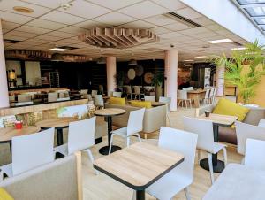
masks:
[[[219,126],[217,124],[213,125],[214,128],[214,141],[218,142],[218,135],[219,135]],[[213,162],[213,170],[215,173],[222,173],[224,169],[224,163],[221,160],[217,159],[217,153],[212,155],[212,162]],[[203,169],[208,169],[208,158],[201,159],[200,165]]]

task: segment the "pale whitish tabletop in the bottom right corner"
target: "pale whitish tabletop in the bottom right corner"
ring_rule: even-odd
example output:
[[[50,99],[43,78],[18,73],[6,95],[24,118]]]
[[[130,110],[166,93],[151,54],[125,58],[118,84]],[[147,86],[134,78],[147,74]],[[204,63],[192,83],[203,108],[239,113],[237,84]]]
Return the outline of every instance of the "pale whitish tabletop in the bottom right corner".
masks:
[[[261,200],[264,188],[265,171],[229,164],[202,200]]]

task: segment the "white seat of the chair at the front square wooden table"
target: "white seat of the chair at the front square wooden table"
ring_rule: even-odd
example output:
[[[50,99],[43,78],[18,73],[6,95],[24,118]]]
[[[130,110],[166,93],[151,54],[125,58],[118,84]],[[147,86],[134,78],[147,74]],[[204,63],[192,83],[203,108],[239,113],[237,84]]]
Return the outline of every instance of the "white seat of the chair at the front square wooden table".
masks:
[[[179,191],[192,184],[192,182],[193,179],[191,177],[173,169],[170,173],[155,181],[146,191],[157,199],[171,199]]]

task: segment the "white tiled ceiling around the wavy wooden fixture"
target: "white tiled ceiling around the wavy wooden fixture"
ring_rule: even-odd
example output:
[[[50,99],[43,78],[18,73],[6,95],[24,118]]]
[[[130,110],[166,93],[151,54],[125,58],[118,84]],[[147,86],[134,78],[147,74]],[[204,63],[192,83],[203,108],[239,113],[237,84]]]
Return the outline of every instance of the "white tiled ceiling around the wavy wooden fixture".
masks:
[[[71,2],[72,7],[64,10],[61,3]],[[33,13],[16,12],[14,6],[34,9]],[[202,27],[191,28],[174,19],[165,17],[167,12],[176,12],[191,19]],[[164,58],[164,50],[170,44],[178,49],[179,60],[195,59],[196,56],[231,52],[234,44],[209,44],[208,41],[229,38],[234,42],[246,43],[214,21],[178,0],[2,0],[0,18],[4,39],[19,40],[4,43],[5,50],[49,50],[56,45],[79,49],[66,53],[98,58],[116,56],[119,60],[130,58]],[[104,49],[89,46],[78,40],[77,35],[91,27],[150,28],[159,35],[160,42],[136,46],[130,49]]]

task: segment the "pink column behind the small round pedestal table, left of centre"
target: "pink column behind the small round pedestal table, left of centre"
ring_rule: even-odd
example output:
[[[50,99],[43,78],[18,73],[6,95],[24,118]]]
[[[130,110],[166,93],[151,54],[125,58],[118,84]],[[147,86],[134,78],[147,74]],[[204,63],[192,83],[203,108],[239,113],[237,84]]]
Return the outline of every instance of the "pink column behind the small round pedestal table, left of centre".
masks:
[[[116,57],[107,57],[107,90],[114,91],[116,83]]]

